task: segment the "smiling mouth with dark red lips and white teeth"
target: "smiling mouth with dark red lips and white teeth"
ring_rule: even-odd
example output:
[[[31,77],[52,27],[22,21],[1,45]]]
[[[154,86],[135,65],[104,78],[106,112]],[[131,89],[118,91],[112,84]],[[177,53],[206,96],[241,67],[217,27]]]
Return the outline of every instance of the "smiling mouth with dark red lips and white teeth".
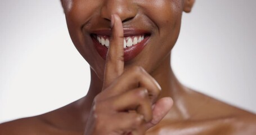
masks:
[[[98,54],[106,60],[111,30],[97,30],[91,34]],[[134,59],[146,46],[150,34],[143,30],[124,29],[124,61]]]

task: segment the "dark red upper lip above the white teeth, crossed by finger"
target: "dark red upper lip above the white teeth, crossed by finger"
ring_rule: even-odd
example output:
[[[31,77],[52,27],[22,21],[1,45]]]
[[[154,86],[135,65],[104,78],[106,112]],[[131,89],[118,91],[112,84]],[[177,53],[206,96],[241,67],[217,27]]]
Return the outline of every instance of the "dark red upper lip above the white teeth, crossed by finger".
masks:
[[[94,30],[92,31],[92,34],[110,37],[111,29]],[[136,29],[136,28],[124,28],[124,37],[132,37],[136,35],[150,35],[150,32],[147,30]]]

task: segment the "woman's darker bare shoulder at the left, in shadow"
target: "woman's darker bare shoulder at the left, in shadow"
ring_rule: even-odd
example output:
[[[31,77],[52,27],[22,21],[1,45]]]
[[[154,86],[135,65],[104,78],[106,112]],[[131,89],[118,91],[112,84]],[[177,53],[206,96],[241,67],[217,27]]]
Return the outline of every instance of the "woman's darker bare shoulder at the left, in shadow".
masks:
[[[51,111],[46,114],[33,116],[29,118],[22,118],[0,124],[0,135],[2,134],[81,134],[78,130],[68,129],[64,126],[74,127],[74,113],[73,105],[61,107],[60,109]],[[73,121],[72,121],[73,120]],[[72,126],[70,126],[72,128]]]

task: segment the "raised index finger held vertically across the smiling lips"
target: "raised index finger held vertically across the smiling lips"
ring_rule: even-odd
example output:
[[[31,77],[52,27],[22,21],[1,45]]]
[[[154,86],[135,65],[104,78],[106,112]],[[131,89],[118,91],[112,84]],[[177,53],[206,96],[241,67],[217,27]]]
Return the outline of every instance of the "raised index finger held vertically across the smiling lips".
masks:
[[[124,30],[118,15],[111,16],[111,38],[106,56],[103,88],[109,86],[124,71]]]

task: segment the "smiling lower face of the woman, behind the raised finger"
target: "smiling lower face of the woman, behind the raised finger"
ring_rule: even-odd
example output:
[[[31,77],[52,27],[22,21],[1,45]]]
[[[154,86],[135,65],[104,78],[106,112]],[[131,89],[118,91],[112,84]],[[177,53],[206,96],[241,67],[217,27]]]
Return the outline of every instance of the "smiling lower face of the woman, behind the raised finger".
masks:
[[[75,47],[102,79],[107,47],[101,44],[110,37],[111,15],[123,21],[125,43],[131,46],[124,49],[125,69],[140,65],[152,73],[170,55],[190,1],[62,0],[62,5]]]

